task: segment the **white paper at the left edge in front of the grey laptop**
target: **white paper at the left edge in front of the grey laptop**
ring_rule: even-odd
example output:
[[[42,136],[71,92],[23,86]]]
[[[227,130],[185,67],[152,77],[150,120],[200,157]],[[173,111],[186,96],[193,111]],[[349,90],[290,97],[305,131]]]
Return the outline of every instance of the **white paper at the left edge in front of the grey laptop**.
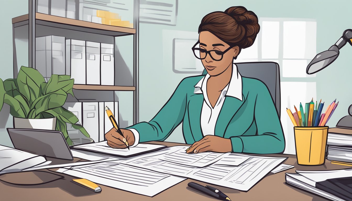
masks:
[[[43,156],[0,145],[0,174],[21,171],[45,162]]]

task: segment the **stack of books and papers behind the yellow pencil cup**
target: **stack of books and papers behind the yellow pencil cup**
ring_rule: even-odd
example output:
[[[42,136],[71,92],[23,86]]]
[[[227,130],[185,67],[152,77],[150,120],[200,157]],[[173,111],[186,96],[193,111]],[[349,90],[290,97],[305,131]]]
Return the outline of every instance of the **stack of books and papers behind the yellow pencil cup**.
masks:
[[[333,164],[352,166],[352,129],[330,128],[327,159]]]

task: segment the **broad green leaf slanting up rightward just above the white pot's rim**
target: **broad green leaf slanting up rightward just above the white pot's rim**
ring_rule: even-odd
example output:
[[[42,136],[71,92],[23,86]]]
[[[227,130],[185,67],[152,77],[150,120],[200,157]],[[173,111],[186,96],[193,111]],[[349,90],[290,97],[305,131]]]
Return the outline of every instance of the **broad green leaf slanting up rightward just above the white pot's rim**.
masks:
[[[64,105],[67,99],[67,93],[64,90],[59,89],[56,92],[45,94],[36,99],[29,112],[29,117],[34,119],[40,113],[47,111],[49,109],[54,109]]]

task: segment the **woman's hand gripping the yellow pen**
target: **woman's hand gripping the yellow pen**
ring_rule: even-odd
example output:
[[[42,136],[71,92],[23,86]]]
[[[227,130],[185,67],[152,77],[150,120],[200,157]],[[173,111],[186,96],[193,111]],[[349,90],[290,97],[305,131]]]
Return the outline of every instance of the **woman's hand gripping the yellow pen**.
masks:
[[[105,134],[105,139],[107,144],[113,148],[124,149],[126,148],[125,142],[127,141],[129,146],[134,144],[135,138],[134,134],[130,130],[120,129],[124,136],[121,136],[116,128],[112,128],[109,132]]]

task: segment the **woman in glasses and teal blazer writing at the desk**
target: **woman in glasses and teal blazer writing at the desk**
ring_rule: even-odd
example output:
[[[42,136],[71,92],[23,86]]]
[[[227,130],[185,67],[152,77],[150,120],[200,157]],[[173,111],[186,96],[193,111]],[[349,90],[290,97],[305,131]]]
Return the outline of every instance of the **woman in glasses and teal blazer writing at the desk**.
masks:
[[[207,14],[199,25],[194,55],[206,75],[184,78],[149,122],[105,134],[111,147],[165,140],[183,122],[187,153],[281,153],[285,142],[274,102],[265,84],[242,77],[233,59],[254,43],[258,18],[245,7]],[[199,45],[199,47],[196,47]]]

